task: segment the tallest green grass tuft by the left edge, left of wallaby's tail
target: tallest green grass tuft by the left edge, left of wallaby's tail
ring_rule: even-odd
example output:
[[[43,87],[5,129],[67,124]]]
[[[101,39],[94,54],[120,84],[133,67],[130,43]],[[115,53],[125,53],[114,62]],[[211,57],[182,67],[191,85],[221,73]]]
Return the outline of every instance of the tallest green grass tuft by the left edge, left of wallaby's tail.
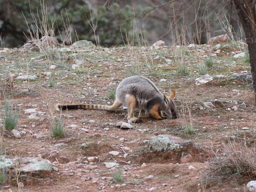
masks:
[[[17,111],[11,108],[11,102],[5,101],[4,102],[4,126],[6,130],[13,130],[17,126],[18,123],[18,114]]]

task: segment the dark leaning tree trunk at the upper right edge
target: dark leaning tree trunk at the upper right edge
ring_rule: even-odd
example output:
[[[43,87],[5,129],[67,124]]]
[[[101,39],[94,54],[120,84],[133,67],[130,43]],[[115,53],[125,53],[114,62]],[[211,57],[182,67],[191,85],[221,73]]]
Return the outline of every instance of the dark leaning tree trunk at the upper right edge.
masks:
[[[248,44],[256,103],[256,2],[254,0],[233,0],[233,2]]]

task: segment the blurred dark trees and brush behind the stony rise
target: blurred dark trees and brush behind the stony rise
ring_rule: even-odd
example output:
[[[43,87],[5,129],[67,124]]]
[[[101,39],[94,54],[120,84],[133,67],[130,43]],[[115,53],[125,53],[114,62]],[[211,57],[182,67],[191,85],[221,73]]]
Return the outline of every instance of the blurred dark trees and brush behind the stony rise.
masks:
[[[39,21],[42,21],[42,4],[47,7],[49,25],[53,24],[52,34],[65,44],[77,39],[97,43],[95,39],[99,39],[100,46],[110,47],[127,43],[127,36],[133,38],[135,43],[143,39],[147,45],[158,39],[167,45],[202,44],[224,33],[232,38],[243,35],[239,30],[237,15],[226,1],[169,2],[0,0],[1,46],[20,47],[29,40],[29,29],[36,29]],[[97,23],[95,34],[90,26],[92,23]],[[63,41],[67,33],[71,38]],[[38,36],[42,36],[42,31]]]

